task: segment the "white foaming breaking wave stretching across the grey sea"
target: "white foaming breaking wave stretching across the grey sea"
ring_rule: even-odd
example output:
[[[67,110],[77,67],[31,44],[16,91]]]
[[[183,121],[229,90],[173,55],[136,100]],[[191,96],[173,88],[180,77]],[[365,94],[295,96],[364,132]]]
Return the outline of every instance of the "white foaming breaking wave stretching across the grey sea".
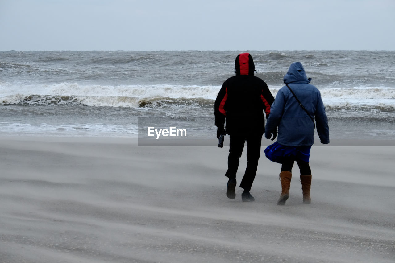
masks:
[[[7,86],[0,84],[1,105],[83,105],[89,107],[214,107],[220,86],[180,85],[51,85]],[[269,86],[276,96],[280,86]],[[395,88],[322,88],[327,110],[395,111]]]

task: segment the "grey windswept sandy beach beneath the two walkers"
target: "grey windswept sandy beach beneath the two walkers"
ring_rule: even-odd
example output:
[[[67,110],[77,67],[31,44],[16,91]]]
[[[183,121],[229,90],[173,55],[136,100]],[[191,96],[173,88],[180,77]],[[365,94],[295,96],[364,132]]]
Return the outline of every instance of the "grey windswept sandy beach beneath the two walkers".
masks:
[[[256,201],[228,199],[215,144],[1,137],[0,262],[395,262],[395,146],[316,142],[312,204],[295,165],[277,206],[280,165],[262,154]]]

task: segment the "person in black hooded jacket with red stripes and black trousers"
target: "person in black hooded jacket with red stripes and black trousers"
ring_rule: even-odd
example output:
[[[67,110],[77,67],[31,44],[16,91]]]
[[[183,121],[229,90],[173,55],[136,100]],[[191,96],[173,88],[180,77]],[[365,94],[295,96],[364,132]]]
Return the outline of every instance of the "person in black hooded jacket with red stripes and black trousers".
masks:
[[[229,134],[228,170],[225,176],[229,178],[226,195],[230,199],[236,197],[236,172],[247,142],[247,167],[240,187],[244,189],[241,200],[249,202],[254,201],[250,190],[258,167],[265,115],[269,117],[274,98],[267,84],[254,76],[254,61],[249,53],[237,56],[235,70],[236,75],[224,82],[215,100],[215,126],[218,128],[218,139],[220,135]]]

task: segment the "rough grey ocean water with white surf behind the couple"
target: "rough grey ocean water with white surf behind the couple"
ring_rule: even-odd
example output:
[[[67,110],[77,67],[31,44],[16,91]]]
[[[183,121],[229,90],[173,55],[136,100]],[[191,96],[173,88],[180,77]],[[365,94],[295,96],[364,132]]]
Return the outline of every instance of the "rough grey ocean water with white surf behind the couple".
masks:
[[[166,120],[214,137],[214,100],[243,52],[0,51],[0,134],[137,137],[139,120]],[[395,139],[395,51],[248,52],[273,96],[302,62],[331,138]]]

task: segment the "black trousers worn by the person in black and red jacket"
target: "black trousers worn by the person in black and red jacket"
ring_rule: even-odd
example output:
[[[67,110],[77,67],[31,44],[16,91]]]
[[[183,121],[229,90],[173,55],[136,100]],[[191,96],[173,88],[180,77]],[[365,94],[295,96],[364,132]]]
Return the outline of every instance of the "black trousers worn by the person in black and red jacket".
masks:
[[[261,154],[262,133],[252,135],[229,135],[229,156],[228,171],[225,176],[229,179],[236,179],[237,169],[239,168],[239,158],[243,153],[244,143],[247,142],[247,167],[241,180],[240,187],[246,191],[251,190],[254,182],[258,160]]]

